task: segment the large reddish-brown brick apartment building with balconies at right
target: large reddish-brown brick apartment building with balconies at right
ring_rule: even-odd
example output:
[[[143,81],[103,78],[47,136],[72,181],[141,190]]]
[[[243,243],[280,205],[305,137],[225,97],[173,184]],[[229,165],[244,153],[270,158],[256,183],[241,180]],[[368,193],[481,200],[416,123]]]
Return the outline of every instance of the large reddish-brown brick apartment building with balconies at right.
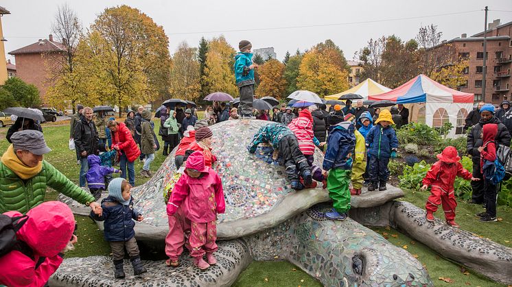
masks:
[[[458,58],[469,60],[469,66],[465,70],[466,84],[459,86],[463,92],[474,93],[474,101],[485,101],[498,104],[504,99],[512,99],[512,22],[500,25],[500,20],[489,23],[487,29],[487,74],[485,77],[485,99],[482,97],[482,71],[483,71],[483,32],[467,37],[461,37],[446,41],[454,49],[454,55]]]

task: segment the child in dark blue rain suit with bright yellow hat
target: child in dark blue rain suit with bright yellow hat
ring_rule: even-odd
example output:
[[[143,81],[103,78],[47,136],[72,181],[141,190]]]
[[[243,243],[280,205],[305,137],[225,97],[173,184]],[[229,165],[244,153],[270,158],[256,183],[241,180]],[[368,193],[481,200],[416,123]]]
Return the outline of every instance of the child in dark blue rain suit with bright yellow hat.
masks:
[[[386,182],[389,178],[389,158],[397,157],[398,139],[391,112],[383,110],[375,125],[366,135],[366,148],[369,149],[369,183],[368,190],[373,191],[377,187],[380,191],[386,190]],[[377,182],[378,179],[378,182]]]

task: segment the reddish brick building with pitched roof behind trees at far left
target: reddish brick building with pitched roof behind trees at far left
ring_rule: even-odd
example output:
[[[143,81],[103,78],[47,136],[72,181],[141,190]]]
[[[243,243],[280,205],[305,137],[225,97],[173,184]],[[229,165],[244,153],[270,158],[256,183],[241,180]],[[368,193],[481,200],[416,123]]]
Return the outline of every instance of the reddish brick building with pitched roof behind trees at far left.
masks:
[[[48,39],[39,39],[34,44],[9,52],[16,59],[16,76],[36,85],[43,103],[51,70],[58,68],[65,51],[65,46],[55,42],[50,34]]]

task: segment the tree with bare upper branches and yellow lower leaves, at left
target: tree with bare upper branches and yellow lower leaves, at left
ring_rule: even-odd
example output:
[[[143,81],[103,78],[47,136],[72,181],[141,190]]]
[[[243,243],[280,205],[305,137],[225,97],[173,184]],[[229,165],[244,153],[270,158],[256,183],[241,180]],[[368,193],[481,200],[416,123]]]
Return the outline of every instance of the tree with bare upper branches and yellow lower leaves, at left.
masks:
[[[69,5],[63,4],[58,7],[52,32],[56,40],[65,47],[65,53],[45,55],[47,58],[51,57],[51,61],[46,61],[51,65],[48,68],[48,80],[51,85],[45,95],[45,101],[57,108],[65,108],[66,103],[71,103],[74,114],[76,103],[87,104],[91,98],[84,92],[84,74],[76,71],[77,66],[81,64],[77,61],[76,54],[82,36],[82,24]]]

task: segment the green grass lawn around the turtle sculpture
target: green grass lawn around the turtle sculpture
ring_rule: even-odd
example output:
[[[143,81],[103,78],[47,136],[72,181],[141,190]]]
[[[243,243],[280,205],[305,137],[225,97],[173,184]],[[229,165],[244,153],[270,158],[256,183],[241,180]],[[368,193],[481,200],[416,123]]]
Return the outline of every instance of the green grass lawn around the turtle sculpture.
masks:
[[[157,131],[160,122],[155,121],[154,123]],[[9,145],[4,138],[7,129],[6,127],[0,129],[0,154]],[[43,129],[47,144],[53,150],[45,155],[45,160],[56,166],[73,182],[78,183],[80,166],[76,164],[75,151],[68,149],[69,122],[64,123],[64,125],[43,124]],[[152,171],[156,171],[165,160],[161,151],[156,152],[155,155],[155,160],[151,166]],[[135,163],[135,183],[137,186],[148,180],[146,177],[139,176],[141,169],[142,163],[137,160]],[[428,192],[409,192],[406,190],[404,200],[424,208],[427,197]],[[49,191],[47,193],[47,200],[54,200],[55,198],[56,192]],[[490,238],[507,247],[512,247],[512,208],[498,207],[498,217],[501,219],[498,223],[478,222],[474,214],[480,211],[482,211],[482,208],[479,205],[458,202],[456,221],[463,229]],[[436,215],[438,217],[442,216],[442,210],[438,211]],[[79,242],[75,250],[68,253],[68,256],[109,255],[110,247],[104,241],[103,234],[97,229],[93,221],[86,216],[76,216],[76,220],[78,221]],[[465,271],[460,265],[441,258],[432,249],[394,229],[377,228],[374,230],[388,238],[393,245],[406,248],[413,255],[417,255],[418,260],[428,269],[436,286],[468,286],[468,284],[470,286],[504,286],[472,271]],[[454,283],[447,283],[438,279],[439,277],[448,278],[453,280]],[[321,284],[289,262],[253,262],[240,275],[234,286],[321,286]]]

